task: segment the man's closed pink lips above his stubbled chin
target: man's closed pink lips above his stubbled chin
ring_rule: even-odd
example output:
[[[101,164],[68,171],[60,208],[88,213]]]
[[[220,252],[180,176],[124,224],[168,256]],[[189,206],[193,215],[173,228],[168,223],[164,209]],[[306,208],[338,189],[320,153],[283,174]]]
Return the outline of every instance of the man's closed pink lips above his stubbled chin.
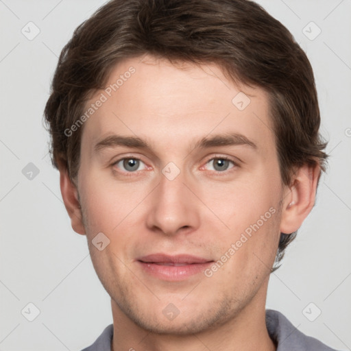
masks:
[[[180,281],[204,272],[214,261],[188,254],[150,254],[136,258],[136,262],[146,274],[161,280]]]

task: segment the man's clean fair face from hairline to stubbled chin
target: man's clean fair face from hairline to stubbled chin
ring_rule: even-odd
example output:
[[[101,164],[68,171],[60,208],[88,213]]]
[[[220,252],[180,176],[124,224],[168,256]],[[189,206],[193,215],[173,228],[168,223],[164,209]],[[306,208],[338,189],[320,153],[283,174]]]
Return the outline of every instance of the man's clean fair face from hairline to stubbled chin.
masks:
[[[91,104],[77,191],[114,313],[189,333],[264,306],[284,196],[265,91],[146,56]]]

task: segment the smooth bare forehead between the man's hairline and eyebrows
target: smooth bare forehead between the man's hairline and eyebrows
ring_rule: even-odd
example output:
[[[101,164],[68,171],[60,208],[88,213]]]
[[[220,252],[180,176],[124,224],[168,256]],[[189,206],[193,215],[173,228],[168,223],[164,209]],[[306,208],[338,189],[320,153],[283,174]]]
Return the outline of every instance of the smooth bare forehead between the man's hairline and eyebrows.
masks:
[[[258,145],[273,136],[265,90],[234,84],[216,64],[173,64],[152,56],[124,60],[85,110],[89,106],[93,114],[84,123],[82,144],[95,145],[112,132],[170,147],[213,132],[237,132]]]

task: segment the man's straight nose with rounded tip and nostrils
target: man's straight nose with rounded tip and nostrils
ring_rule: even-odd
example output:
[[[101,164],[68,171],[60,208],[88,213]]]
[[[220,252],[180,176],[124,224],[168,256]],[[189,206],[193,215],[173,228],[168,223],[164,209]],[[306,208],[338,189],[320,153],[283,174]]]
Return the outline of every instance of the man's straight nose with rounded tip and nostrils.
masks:
[[[200,224],[201,203],[194,195],[195,184],[186,182],[183,172],[173,180],[166,175],[160,174],[160,183],[149,199],[147,227],[166,235],[192,232]]]

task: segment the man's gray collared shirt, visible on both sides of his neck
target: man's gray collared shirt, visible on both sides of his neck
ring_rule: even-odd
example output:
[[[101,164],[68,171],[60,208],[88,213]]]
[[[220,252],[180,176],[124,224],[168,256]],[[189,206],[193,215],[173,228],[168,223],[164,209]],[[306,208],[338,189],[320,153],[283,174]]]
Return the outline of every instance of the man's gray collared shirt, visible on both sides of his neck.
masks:
[[[336,351],[313,337],[304,335],[282,313],[266,310],[269,337],[276,341],[277,351]],[[111,351],[113,324],[105,328],[93,345],[82,351]]]

